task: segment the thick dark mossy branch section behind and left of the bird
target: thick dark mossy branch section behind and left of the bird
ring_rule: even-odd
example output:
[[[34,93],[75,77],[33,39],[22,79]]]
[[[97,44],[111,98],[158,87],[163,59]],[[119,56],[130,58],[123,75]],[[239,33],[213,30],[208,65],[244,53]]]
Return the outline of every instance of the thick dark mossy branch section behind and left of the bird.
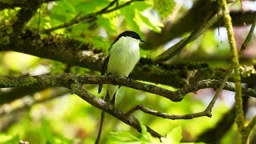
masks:
[[[41,58],[64,62],[70,66],[83,66],[90,70],[101,70],[104,59],[101,50],[88,43],[62,35],[40,38],[26,31],[21,38],[11,38],[9,45],[0,43],[0,50],[14,50]]]

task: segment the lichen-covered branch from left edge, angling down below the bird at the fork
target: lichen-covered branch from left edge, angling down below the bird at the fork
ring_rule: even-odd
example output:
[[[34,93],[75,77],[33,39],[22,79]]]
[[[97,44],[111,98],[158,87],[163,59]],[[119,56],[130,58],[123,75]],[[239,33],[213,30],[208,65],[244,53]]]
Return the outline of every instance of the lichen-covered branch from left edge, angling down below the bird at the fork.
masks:
[[[62,86],[69,88],[72,94],[78,94],[80,98],[84,99],[86,102],[89,102],[92,106],[95,106],[100,110],[106,111],[108,114],[113,115],[115,118],[118,118],[122,122],[125,122],[127,125],[134,127],[136,130],[138,130],[138,132],[141,131],[141,127],[137,118],[134,118],[132,116],[130,116],[129,118],[125,117],[126,113],[124,111],[118,110],[118,108],[110,105],[109,103],[103,101],[100,98],[95,97],[93,94],[90,94],[87,90],[83,89],[82,85],[84,83],[78,83],[79,79],[82,79],[83,76],[75,74],[58,74],[54,76],[40,75],[28,77],[0,77],[0,87]],[[90,81],[90,77],[87,78]],[[93,79],[94,78],[92,78],[91,80]],[[85,80],[81,81],[85,82]],[[147,130],[154,137],[162,137],[162,135],[150,129],[150,127],[147,127]]]

